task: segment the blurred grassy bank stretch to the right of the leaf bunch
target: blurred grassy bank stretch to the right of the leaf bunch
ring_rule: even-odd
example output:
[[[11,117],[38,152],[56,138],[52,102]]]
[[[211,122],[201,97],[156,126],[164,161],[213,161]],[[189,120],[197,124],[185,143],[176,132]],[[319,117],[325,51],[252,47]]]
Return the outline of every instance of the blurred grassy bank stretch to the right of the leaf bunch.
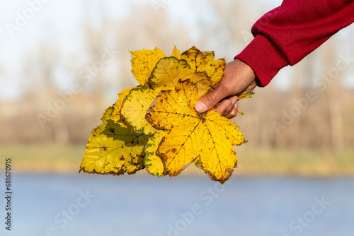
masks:
[[[323,150],[243,149],[237,153],[239,172],[245,175],[354,175],[354,150],[332,153]]]

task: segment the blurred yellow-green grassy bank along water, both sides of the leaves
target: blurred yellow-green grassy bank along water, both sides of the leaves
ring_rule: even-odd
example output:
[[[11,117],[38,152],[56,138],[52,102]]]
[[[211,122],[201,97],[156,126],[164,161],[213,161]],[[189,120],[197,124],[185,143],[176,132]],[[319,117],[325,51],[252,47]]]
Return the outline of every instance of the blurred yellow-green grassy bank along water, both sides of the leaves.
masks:
[[[16,172],[74,173],[78,172],[83,146],[13,145],[0,146],[1,167],[5,158],[11,158]],[[331,177],[354,175],[354,150],[341,153],[314,150],[270,150],[237,148],[238,168],[241,175],[300,175]],[[1,168],[2,169],[2,168]],[[142,171],[144,173],[144,171]],[[200,174],[190,166],[182,175]]]

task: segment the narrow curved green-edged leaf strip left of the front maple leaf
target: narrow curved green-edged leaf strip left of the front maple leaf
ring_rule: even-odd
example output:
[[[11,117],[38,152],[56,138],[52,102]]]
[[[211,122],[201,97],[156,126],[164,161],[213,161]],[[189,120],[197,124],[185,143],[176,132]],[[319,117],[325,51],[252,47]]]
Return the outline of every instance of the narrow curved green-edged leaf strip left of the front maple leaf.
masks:
[[[158,177],[167,175],[165,170],[164,161],[161,160],[161,156],[157,153],[157,148],[161,139],[167,134],[166,130],[158,130],[156,133],[149,138],[147,141],[147,148],[145,152],[147,153],[144,163],[147,167],[147,171],[151,175],[157,175]]]

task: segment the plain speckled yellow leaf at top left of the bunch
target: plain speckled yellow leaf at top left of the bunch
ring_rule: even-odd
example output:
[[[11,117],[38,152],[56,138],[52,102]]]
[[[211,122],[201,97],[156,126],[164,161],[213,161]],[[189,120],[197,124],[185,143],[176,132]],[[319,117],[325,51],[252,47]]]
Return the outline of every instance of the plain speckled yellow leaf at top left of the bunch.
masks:
[[[145,84],[145,81],[152,73],[152,69],[156,66],[159,59],[165,57],[157,47],[154,50],[142,49],[140,51],[132,53],[132,74],[141,85]]]

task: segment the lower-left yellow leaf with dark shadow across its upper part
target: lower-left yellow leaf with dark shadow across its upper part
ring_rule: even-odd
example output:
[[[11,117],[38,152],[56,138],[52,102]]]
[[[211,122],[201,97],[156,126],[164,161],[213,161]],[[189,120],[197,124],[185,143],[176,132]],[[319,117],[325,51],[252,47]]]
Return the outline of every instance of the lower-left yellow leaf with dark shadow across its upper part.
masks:
[[[144,168],[144,146],[148,136],[137,134],[129,124],[120,126],[108,119],[114,108],[103,114],[103,124],[93,129],[87,143],[81,170],[96,174],[134,174]]]

